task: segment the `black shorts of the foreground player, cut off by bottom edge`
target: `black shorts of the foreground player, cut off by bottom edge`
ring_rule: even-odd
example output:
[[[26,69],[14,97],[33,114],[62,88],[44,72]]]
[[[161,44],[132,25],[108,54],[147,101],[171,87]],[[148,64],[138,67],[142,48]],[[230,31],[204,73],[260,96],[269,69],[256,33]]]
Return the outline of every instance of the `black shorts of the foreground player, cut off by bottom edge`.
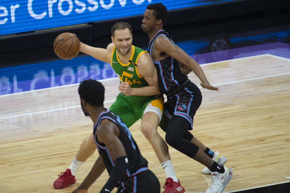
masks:
[[[119,183],[117,193],[160,193],[156,175],[147,169]]]

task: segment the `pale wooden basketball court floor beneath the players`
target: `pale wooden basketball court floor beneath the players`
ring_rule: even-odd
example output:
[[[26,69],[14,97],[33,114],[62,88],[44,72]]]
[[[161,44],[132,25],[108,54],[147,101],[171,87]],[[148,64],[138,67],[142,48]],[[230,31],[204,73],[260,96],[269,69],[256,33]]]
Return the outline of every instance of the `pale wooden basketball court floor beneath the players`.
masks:
[[[200,88],[203,101],[191,132],[227,157],[226,166],[234,175],[224,191],[289,181],[290,60],[266,54],[201,67],[220,90]],[[193,72],[189,78],[199,86]],[[119,82],[101,82],[108,108]],[[76,184],[53,189],[57,175],[70,166],[82,140],[92,133],[93,123],[80,108],[77,89],[78,84],[0,96],[0,192],[69,193],[86,177],[97,152],[79,169]],[[162,192],[166,176],[140,132],[140,121],[130,131]],[[158,132],[164,138],[160,128]],[[211,175],[202,174],[204,166],[171,147],[169,152],[186,192],[205,192]],[[105,171],[89,192],[99,192],[107,179]]]

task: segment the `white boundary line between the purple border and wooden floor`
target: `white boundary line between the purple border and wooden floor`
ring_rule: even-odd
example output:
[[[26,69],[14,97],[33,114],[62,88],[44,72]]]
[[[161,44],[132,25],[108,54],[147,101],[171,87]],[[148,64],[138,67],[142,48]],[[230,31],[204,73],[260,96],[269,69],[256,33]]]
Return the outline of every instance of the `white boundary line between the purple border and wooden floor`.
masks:
[[[248,57],[243,57],[243,58],[235,58],[235,59],[230,59],[230,60],[223,60],[223,61],[218,61],[218,62],[200,64],[200,66],[207,66],[207,65],[218,64],[218,63],[222,63],[222,62],[235,61],[235,60],[243,60],[243,59],[254,58],[254,57],[259,57],[259,56],[271,56],[271,57],[275,57],[275,58],[279,58],[279,59],[284,59],[284,60],[290,61],[290,59],[288,59],[288,58],[283,58],[283,57],[275,56],[275,55],[272,55],[272,54],[261,54],[261,55],[256,55],[256,56],[248,56]],[[114,78],[109,78],[109,79],[101,79],[101,80],[98,80],[98,81],[99,82],[104,82],[104,81],[107,81],[107,80],[114,80],[114,79],[119,79],[119,78],[118,77],[114,77]],[[10,95],[18,95],[18,94],[28,93],[28,92],[37,92],[37,91],[60,88],[60,87],[75,86],[75,85],[78,85],[78,84],[79,83],[69,84],[69,85],[61,85],[61,86],[54,86],[54,87],[49,87],[49,88],[41,88],[41,89],[37,89],[37,90],[30,90],[30,91],[24,91],[24,92],[16,92],[16,93],[11,93],[11,94],[6,94],[6,95],[0,95],[0,97],[10,96]]]

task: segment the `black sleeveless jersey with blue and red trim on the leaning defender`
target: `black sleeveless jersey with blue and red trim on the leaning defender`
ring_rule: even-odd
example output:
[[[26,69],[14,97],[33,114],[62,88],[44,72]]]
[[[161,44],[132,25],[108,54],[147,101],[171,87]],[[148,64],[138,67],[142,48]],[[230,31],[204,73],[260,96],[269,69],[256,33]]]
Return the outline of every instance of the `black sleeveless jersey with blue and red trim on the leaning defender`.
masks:
[[[153,37],[153,39],[150,40],[150,43],[149,43],[150,56],[151,56],[151,49],[153,47],[154,41],[159,36],[165,36],[171,40],[169,34],[166,31],[159,30],[156,33],[156,35]],[[174,46],[176,46],[173,41],[172,43],[174,44]],[[153,60],[153,63],[157,69],[158,87],[161,94],[164,94],[164,93],[166,94],[169,91],[172,91],[172,89],[178,87],[180,84],[182,84],[188,79],[186,75],[182,74],[179,61],[175,60],[171,56],[163,60],[159,60],[159,61]]]

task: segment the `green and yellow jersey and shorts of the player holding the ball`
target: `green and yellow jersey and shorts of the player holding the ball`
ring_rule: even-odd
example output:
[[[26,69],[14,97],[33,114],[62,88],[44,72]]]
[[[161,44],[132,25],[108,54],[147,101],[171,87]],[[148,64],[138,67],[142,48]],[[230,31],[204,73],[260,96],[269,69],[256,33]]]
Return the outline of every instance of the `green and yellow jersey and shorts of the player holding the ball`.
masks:
[[[147,51],[141,48],[132,46],[132,54],[130,60],[127,64],[123,64],[117,54],[116,47],[114,46],[111,57],[111,66],[116,72],[117,76],[121,82],[129,82],[132,88],[139,88],[148,86],[148,83],[140,76],[137,69],[137,62],[139,57],[146,53]],[[124,121],[127,127],[131,127],[136,121],[142,118],[143,113],[147,105],[154,100],[161,98],[161,95],[152,96],[126,96],[123,93],[119,93],[116,101],[111,105],[110,111],[118,116]],[[158,100],[160,101],[160,100]],[[161,104],[163,107],[163,103]],[[124,108],[125,107],[125,108]],[[162,110],[162,107],[160,110]],[[163,123],[163,119],[160,121],[159,125]]]

